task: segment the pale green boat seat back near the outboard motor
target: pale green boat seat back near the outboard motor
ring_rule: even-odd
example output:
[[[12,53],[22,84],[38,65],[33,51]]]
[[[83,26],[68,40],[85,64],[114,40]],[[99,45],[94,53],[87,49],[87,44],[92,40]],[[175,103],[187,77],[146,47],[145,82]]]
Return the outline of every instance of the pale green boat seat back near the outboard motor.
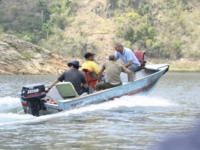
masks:
[[[79,96],[71,82],[59,82],[55,86],[63,99],[70,99]]]

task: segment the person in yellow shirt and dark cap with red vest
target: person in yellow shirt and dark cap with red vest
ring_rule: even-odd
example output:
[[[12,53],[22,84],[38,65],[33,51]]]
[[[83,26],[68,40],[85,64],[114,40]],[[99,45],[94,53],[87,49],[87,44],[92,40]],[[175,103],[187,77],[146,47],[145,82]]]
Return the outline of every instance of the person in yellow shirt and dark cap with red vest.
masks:
[[[86,80],[89,86],[93,89],[97,83],[97,75],[99,73],[98,65],[94,62],[94,55],[93,53],[87,52],[84,57],[86,61],[82,64],[81,70],[86,75]]]

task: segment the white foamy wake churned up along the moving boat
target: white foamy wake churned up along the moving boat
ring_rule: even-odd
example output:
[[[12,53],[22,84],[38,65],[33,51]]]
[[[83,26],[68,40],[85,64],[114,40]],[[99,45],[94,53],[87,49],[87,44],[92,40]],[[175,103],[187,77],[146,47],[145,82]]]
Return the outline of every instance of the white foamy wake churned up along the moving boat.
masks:
[[[18,98],[4,97],[0,98],[0,126],[13,124],[31,124],[36,122],[48,121],[53,118],[65,117],[74,114],[83,114],[90,111],[112,110],[122,108],[136,108],[136,107],[173,107],[176,104],[169,100],[147,97],[147,96],[123,96],[116,98],[114,101],[101,103],[97,105],[90,105],[70,111],[56,113],[52,115],[34,117],[32,115],[23,114],[21,103]]]

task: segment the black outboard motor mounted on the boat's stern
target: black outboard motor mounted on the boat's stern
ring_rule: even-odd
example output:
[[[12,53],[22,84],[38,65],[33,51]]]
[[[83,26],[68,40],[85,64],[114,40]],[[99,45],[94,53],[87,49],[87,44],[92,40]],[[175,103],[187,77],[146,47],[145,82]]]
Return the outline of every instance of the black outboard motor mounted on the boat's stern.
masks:
[[[21,91],[21,98],[27,102],[29,114],[39,116],[39,111],[43,107],[41,99],[46,96],[43,84],[31,84],[24,86]]]

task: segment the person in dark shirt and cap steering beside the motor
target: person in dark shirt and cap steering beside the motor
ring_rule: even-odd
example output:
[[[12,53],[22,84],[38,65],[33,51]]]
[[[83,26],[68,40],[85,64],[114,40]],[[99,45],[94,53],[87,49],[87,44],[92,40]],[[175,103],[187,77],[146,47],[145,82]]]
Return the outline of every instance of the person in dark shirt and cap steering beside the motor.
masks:
[[[79,65],[78,61],[72,61],[68,63],[68,66],[70,67],[69,70],[66,70],[63,72],[49,87],[47,92],[58,82],[71,82],[74,86],[76,92],[81,95],[84,92],[87,92],[89,94],[89,88],[86,83],[86,77],[85,74],[78,70]]]

